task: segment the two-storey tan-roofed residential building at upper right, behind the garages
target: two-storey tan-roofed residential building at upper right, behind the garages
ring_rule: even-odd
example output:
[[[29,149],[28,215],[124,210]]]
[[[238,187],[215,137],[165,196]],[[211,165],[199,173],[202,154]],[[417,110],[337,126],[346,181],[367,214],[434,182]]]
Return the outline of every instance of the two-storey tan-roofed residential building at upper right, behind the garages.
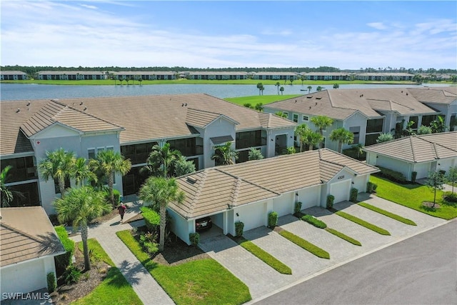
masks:
[[[314,116],[328,116],[333,119],[333,124],[323,131],[323,144],[330,149],[336,150],[338,143],[332,142],[329,135],[333,129],[341,127],[353,132],[353,144],[368,146],[376,143],[379,134],[403,128],[408,121],[414,122],[412,128],[416,130],[442,114],[418,101],[409,90],[329,89],[276,101],[265,105],[263,109],[269,113],[282,111],[291,121],[307,124],[313,130],[317,129],[311,123]],[[343,145],[343,149],[350,146]]]

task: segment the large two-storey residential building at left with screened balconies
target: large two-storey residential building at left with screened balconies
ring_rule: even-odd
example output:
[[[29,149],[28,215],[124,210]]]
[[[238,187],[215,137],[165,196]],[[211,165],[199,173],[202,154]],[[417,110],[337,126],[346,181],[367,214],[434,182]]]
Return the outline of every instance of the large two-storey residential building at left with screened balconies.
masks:
[[[8,186],[24,194],[14,206],[41,205],[52,214],[59,187],[36,169],[46,151],[63,147],[86,159],[103,149],[119,151],[132,169],[116,175],[114,187],[129,195],[146,179],[140,169],[154,144],[169,142],[205,169],[215,165],[215,147],[226,142],[238,151],[238,162],[247,161],[251,147],[266,158],[282,154],[293,146],[295,126],[207,94],[1,101],[1,169],[13,166]]]

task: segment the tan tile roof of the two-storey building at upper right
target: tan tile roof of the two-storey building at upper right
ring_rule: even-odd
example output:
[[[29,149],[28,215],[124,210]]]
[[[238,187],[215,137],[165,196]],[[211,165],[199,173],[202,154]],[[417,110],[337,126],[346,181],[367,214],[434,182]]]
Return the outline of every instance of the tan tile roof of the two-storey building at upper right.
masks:
[[[378,111],[396,111],[400,115],[436,114],[418,101],[408,89],[329,89],[266,105],[267,108],[295,111],[332,119],[347,119],[356,111],[368,118],[382,116]]]

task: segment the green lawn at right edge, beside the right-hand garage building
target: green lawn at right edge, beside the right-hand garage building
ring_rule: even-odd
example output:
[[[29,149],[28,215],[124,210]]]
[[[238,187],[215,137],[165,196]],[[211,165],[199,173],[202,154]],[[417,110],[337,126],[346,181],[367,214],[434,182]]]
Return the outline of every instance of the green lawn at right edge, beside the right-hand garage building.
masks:
[[[440,204],[440,207],[438,209],[428,209],[422,206],[422,201],[433,202],[433,189],[430,189],[428,186],[421,184],[396,184],[379,176],[371,176],[370,181],[378,184],[376,195],[383,199],[442,219],[453,219],[457,217],[457,206],[448,205],[441,199],[443,191],[436,191],[436,202]]]

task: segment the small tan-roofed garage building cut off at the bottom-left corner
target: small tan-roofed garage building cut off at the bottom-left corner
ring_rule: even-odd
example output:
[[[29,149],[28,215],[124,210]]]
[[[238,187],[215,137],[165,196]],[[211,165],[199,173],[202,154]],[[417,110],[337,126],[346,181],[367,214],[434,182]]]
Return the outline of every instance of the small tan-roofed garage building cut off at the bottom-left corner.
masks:
[[[65,249],[46,212],[26,206],[0,209],[0,215],[1,296],[47,289],[47,274],[56,276],[54,257]]]

